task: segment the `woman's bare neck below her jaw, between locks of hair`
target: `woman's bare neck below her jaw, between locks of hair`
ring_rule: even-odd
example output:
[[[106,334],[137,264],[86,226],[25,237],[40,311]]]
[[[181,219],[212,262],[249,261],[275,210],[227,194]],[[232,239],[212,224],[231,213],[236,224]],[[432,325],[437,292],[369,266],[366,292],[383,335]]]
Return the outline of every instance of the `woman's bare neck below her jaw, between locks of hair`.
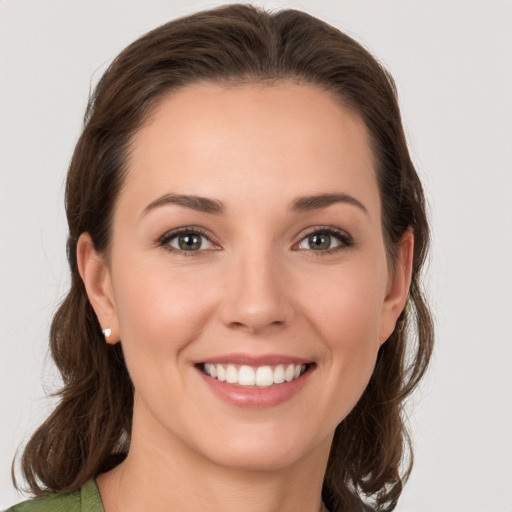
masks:
[[[331,439],[286,467],[215,464],[168,432],[140,435],[134,417],[125,461],[97,479],[105,512],[318,512]]]

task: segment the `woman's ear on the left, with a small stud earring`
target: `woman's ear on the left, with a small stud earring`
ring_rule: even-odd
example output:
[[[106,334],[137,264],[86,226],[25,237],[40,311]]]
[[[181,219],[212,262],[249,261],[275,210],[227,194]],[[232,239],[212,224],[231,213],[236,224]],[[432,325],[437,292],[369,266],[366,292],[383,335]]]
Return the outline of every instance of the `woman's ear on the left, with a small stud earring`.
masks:
[[[114,291],[110,270],[104,259],[96,252],[89,233],[82,233],[77,243],[77,263],[80,277],[85,285],[89,301],[98,317],[102,329],[110,329],[107,343],[119,342]]]

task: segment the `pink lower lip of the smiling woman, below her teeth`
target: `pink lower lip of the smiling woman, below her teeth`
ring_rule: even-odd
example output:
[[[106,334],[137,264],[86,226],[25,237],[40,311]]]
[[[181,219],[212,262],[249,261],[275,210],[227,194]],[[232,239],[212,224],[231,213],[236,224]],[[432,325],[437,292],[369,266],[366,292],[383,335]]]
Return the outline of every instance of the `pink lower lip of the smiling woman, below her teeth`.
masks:
[[[275,407],[292,399],[309,380],[310,374],[313,373],[313,368],[309,368],[298,379],[283,382],[282,384],[274,384],[268,388],[237,386],[209,377],[199,368],[197,368],[197,371],[200,373],[207,386],[224,402],[236,407],[264,409]]]

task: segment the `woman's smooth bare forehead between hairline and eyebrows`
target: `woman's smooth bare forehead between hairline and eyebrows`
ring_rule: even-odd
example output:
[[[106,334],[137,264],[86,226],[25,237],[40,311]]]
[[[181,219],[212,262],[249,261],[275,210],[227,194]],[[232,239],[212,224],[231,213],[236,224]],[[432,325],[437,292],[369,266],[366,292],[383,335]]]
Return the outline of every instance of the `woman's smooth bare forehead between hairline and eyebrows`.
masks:
[[[379,202],[360,117],[293,83],[195,84],[166,96],[133,138],[121,195],[133,205],[169,192],[228,206],[326,192]]]

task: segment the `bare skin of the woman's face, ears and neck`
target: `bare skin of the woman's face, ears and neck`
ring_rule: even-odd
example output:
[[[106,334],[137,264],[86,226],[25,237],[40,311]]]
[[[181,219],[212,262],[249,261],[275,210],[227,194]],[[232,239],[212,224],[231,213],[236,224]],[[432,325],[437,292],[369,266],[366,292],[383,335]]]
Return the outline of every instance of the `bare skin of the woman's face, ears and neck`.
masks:
[[[360,205],[292,209],[340,193]],[[144,213],[165,194],[224,212]],[[187,226],[208,234],[201,250],[161,243]],[[353,243],[333,236],[332,249],[312,249],[308,235],[326,226]],[[106,511],[318,511],[334,430],[404,307],[412,248],[406,232],[391,272],[366,127],[327,92],[196,84],[166,97],[134,137],[109,254],[87,234],[78,245],[90,301],[108,342],[122,340],[135,387],[129,455],[98,477]],[[314,369],[280,405],[236,407],[194,366],[233,352]]]

